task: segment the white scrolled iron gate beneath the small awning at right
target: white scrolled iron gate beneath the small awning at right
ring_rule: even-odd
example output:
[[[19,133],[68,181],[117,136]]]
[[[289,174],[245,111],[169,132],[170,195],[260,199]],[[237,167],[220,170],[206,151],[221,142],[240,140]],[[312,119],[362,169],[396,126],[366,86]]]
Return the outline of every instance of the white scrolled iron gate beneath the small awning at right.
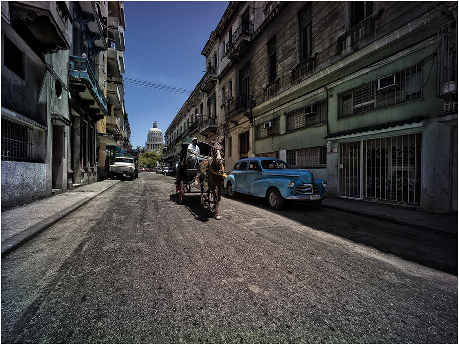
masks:
[[[339,196],[421,204],[421,133],[339,145]]]

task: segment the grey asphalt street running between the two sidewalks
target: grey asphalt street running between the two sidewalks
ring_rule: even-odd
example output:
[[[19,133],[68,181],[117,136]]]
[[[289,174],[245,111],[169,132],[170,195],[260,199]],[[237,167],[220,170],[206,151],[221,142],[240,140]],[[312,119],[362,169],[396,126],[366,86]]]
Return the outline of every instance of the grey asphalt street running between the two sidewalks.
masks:
[[[458,343],[457,275],[370,246],[397,226],[243,196],[219,211],[179,204],[171,176],[116,184],[2,258],[1,342]]]

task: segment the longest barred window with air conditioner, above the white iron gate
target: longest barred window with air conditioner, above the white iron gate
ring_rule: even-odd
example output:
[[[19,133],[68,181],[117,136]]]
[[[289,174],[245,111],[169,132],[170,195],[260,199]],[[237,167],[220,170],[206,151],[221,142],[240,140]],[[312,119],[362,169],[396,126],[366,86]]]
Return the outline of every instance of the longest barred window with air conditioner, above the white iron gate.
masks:
[[[339,94],[338,118],[422,99],[422,63]]]

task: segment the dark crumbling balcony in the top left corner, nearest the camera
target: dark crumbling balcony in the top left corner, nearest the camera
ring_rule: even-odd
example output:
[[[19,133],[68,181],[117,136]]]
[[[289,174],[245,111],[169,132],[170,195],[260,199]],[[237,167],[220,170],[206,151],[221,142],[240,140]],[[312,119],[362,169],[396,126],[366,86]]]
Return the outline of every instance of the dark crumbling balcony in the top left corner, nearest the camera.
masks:
[[[71,15],[66,1],[8,1],[11,26],[43,54],[70,48]]]

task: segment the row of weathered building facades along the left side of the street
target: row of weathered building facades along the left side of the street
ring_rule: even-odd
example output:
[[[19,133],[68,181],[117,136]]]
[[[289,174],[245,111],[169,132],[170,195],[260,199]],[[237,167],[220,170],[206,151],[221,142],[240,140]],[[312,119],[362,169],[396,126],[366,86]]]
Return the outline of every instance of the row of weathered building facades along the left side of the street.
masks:
[[[107,85],[109,51],[122,60],[124,50],[122,8],[121,1],[1,2],[2,210],[99,180],[100,151],[129,144],[122,79],[122,107]],[[114,32],[123,42],[109,46]],[[112,115],[123,120],[120,137],[107,130]]]

